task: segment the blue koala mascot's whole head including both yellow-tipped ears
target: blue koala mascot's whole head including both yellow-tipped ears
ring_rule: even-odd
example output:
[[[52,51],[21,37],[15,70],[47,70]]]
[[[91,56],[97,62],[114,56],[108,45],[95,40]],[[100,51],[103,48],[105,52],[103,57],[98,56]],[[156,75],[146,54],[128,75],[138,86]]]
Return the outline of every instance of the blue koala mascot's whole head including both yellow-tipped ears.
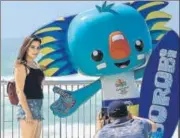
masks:
[[[46,76],[81,71],[105,76],[132,71],[143,65],[146,55],[169,31],[171,19],[160,9],[167,2],[136,1],[96,6],[69,17],[61,17],[33,34],[42,39]]]

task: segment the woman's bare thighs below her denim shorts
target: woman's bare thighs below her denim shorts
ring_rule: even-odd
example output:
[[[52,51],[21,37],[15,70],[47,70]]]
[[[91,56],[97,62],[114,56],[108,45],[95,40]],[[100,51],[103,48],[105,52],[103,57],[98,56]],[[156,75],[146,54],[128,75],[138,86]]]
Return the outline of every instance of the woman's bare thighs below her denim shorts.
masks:
[[[27,123],[25,120],[20,120],[22,138],[36,138],[38,129],[38,121],[33,120],[32,123]]]

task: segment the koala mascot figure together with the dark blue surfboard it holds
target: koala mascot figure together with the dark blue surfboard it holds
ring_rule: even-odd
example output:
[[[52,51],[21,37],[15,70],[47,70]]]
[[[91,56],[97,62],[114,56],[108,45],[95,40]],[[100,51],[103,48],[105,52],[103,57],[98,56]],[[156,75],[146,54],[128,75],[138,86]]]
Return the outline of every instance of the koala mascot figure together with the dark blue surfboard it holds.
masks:
[[[36,30],[42,39],[46,76],[78,72],[99,77],[76,91],[54,87],[59,99],[51,105],[54,115],[67,117],[100,89],[102,107],[121,99],[134,115],[156,122],[150,138],[170,138],[178,124],[179,38],[165,26],[171,16],[168,2],[136,1],[107,4],[60,17]],[[135,81],[142,78],[139,92]]]

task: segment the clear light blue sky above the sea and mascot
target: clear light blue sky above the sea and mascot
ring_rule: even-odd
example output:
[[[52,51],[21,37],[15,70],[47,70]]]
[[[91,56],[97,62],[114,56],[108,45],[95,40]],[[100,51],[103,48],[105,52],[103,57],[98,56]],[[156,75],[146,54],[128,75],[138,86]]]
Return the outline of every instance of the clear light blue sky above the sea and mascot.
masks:
[[[1,38],[25,37],[60,16],[79,13],[102,3],[103,1],[3,1],[1,2]],[[122,2],[115,1],[115,3]],[[173,15],[168,26],[179,33],[178,2],[170,2],[164,11]]]

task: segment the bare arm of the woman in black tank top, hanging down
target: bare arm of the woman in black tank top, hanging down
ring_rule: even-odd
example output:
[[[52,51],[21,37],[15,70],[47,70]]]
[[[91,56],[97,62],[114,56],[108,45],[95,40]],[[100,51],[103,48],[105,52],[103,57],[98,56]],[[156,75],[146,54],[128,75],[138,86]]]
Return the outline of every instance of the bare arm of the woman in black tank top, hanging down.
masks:
[[[25,79],[26,79],[25,66],[22,64],[17,65],[15,67],[15,82],[16,82],[16,91],[19,98],[19,103],[21,104],[26,114],[31,114],[29,106],[27,104],[26,96],[24,94]]]

